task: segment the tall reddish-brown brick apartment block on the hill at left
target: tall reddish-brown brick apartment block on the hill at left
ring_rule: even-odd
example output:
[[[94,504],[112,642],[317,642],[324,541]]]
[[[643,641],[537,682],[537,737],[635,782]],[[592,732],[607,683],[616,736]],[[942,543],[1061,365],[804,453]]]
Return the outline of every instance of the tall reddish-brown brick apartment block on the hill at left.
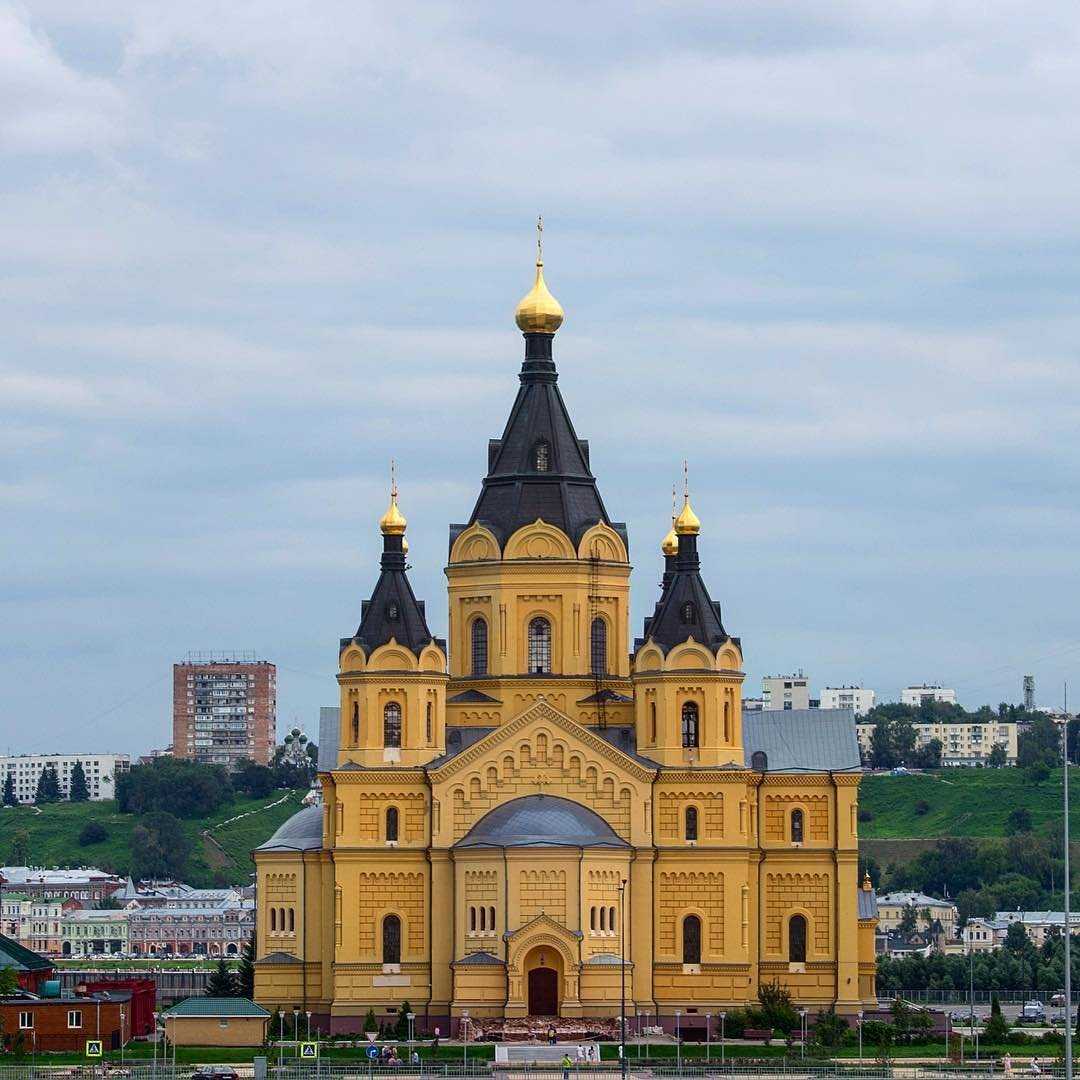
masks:
[[[278,670],[266,660],[190,653],[173,664],[173,753],[204,765],[269,765],[276,741]]]

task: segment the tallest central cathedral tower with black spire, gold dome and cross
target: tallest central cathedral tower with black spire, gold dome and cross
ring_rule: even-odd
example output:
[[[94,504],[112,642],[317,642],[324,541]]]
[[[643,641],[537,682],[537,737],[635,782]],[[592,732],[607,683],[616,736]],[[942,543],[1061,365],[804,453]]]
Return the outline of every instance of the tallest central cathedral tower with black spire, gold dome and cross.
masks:
[[[632,723],[626,527],[608,517],[558,389],[563,308],[536,278],[515,322],[519,387],[468,523],[450,526],[453,727],[498,726],[540,697],[582,724]]]

